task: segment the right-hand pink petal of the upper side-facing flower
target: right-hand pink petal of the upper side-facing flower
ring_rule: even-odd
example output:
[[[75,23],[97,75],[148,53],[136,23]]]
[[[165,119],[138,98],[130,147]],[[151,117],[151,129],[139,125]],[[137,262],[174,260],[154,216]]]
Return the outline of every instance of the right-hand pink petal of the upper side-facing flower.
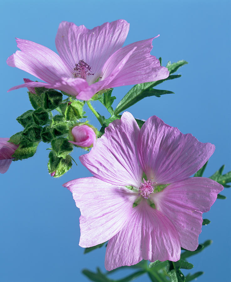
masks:
[[[107,60],[103,66],[102,79],[109,76],[118,62],[136,47],[123,69],[110,81],[108,88],[157,81],[169,76],[168,69],[160,66],[160,61],[155,56],[150,55],[153,39],[129,44],[119,49]]]

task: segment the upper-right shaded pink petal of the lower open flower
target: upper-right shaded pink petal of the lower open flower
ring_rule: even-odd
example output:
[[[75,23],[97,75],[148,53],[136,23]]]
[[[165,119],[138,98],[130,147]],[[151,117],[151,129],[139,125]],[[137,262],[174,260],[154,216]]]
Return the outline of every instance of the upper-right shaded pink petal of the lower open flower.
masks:
[[[156,116],[144,123],[138,138],[140,163],[147,178],[158,184],[188,178],[207,162],[214,149],[213,144],[182,134]]]

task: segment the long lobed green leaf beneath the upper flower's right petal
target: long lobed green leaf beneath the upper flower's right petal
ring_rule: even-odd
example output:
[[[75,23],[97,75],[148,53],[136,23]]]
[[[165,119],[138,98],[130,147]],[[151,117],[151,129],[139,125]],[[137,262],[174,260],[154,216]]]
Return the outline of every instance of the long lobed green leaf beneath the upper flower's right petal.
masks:
[[[171,62],[169,61],[166,67],[170,71],[170,74],[172,74],[176,72],[176,70],[178,70],[179,67],[185,64],[187,64],[187,62],[184,60],[178,61],[173,64],[171,64]],[[127,109],[128,107],[131,107],[132,105],[139,102],[141,99],[145,97],[150,97],[150,96],[160,97],[161,95],[164,95],[164,94],[174,93],[168,90],[153,89],[153,87],[157,86],[158,84],[162,83],[165,80],[175,79],[180,76],[181,75],[177,75],[177,76],[170,75],[169,77],[159,80],[159,81],[145,82],[145,83],[135,85],[131,90],[129,90],[129,92],[118,103],[117,107],[115,108],[114,114],[118,115],[120,112],[123,112],[125,109]]]

